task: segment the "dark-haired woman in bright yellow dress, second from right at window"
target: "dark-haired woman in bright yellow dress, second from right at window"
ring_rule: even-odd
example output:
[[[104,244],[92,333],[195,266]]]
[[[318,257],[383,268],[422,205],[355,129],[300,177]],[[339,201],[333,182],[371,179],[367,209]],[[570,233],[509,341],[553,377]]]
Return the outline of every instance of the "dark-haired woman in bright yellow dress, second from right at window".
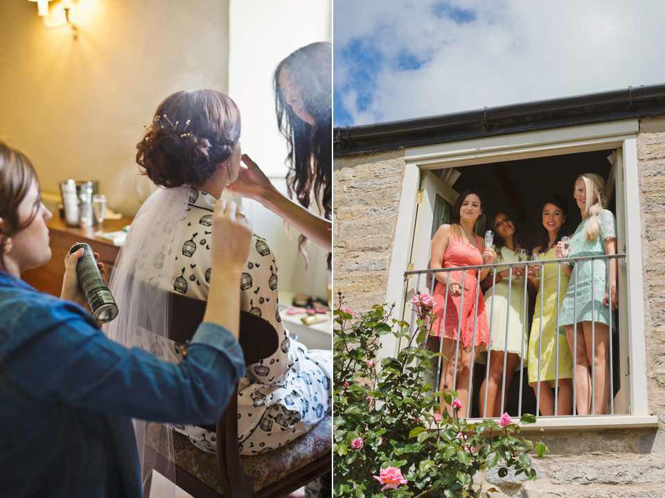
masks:
[[[544,230],[540,233],[540,245],[533,249],[539,260],[556,259],[556,244],[567,234],[567,216],[568,204],[563,197],[553,195],[545,200],[542,206]],[[573,407],[573,362],[567,341],[558,333],[557,308],[561,308],[569,277],[558,263],[549,263],[540,265],[539,281],[535,279],[538,268],[530,266],[528,274],[538,292],[529,335],[529,384],[538,398],[541,415],[555,414],[556,387],[556,414],[568,415]]]

